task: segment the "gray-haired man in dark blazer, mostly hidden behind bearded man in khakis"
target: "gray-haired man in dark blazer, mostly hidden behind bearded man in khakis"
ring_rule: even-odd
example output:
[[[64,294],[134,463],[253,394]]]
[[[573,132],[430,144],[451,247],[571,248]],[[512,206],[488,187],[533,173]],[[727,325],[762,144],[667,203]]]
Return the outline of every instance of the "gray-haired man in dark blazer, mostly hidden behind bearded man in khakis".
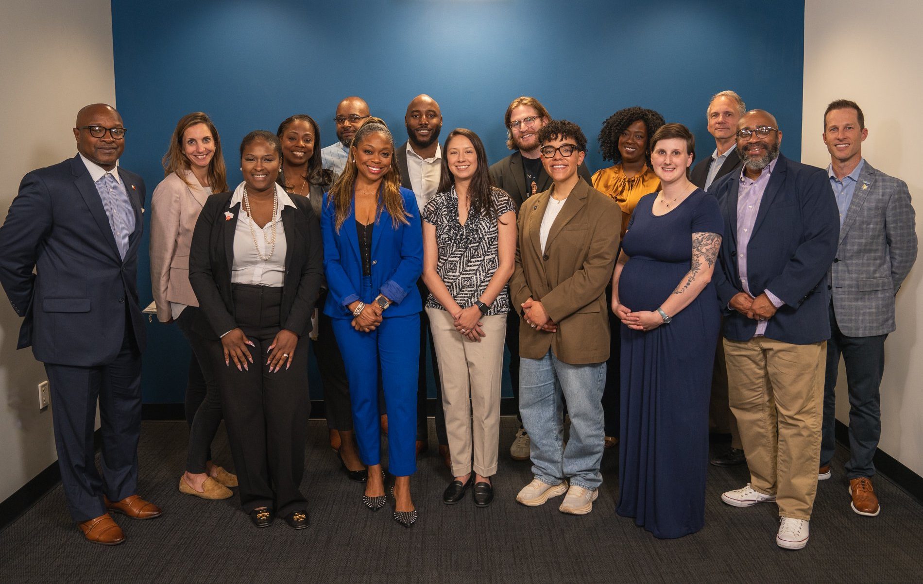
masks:
[[[714,138],[714,151],[708,158],[702,159],[692,167],[689,180],[693,185],[708,190],[727,173],[739,172],[740,157],[737,156],[735,133],[737,120],[747,111],[747,106],[735,91],[726,90],[715,93],[708,103],[705,119],[708,121],[708,133]],[[730,434],[731,444],[720,448],[711,462],[714,466],[733,467],[745,462],[737,420],[731,413],[727,401],[727,367],[725,366],[725,349],[721,337],[714,352],[714,369],[712,372],[712,400],[709,404],[709,426],[717,434]]]

